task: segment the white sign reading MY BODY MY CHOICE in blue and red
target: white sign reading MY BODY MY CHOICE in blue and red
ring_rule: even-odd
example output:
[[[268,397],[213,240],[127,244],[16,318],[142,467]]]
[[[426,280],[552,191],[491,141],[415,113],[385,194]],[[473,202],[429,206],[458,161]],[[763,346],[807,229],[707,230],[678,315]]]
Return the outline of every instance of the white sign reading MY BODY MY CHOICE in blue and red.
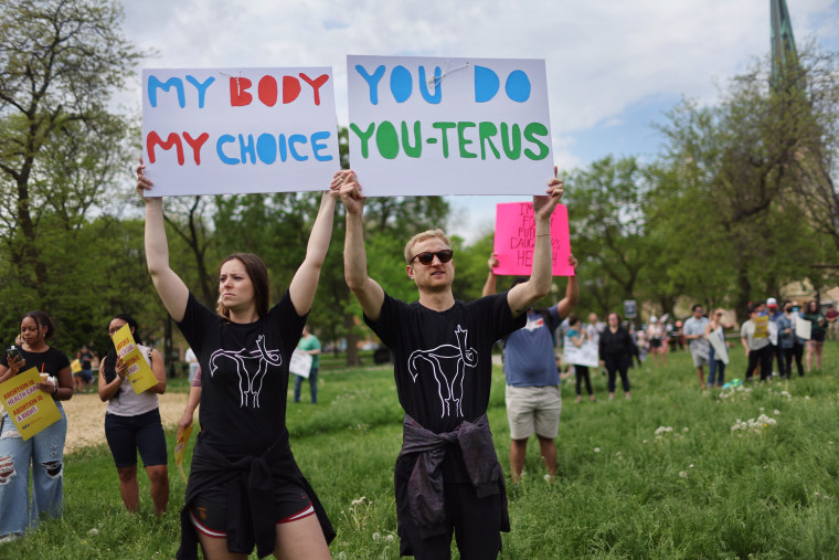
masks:
[[[331,68],[146,68],[142,157],[153,197],[326,190]]]

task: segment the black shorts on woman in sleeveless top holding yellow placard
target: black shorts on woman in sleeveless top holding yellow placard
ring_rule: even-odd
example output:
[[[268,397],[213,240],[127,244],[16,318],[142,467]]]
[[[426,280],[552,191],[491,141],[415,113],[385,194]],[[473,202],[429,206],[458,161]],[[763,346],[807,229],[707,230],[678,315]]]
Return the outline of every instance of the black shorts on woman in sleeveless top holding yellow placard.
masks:
[[[159,409],[137,416],[105,414],[105,437],[117,468],[136,465],[138,451],[147,467],[167,464],[166,435]]]

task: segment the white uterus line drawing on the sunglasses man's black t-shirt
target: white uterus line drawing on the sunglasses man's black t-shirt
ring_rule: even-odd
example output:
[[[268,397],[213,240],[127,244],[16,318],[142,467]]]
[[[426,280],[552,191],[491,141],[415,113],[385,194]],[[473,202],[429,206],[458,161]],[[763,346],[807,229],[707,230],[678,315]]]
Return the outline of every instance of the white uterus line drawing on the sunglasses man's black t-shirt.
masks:
[[[414,350],[407,359],[407,371],[416,383],[420,366],[424,361],[432,367],[440,401],[440,418],[463,416],[464,377],[466,368],[478,364],[478,352],[466,344],[467,330],[460,325],[455,329],[457,346],[440,345],[431,350]]]

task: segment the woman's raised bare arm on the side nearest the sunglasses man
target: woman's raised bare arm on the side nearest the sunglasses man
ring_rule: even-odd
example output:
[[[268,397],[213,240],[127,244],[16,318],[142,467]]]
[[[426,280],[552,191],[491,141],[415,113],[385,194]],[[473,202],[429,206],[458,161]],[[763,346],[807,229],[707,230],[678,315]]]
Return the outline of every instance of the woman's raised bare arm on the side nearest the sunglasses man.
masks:
[[[309,313],[311,302],[315,299],[315,292],[318,289],[320,270],[323,266],[323,260],[327,257],[329,240],[332,237],[337,198],[338,193],[332,191],[327,191],[321,197],[318,215],[315,218],[315,225],[311,226],[311,233],[309,233],[309,243],[306,245],[306,258],[297,268],[295,277],[291,278],[291,284],[288,286],[291,303],[297,315],[300,316]]]

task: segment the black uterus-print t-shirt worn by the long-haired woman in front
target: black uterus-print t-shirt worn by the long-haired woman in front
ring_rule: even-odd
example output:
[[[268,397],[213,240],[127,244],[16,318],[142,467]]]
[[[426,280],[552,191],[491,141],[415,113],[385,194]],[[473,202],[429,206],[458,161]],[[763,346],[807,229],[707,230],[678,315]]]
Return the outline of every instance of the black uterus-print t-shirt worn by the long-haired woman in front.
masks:
[[[190,294],[178,328],[201,364],[200,441],[233,461],[262,455],[286,430],[288,363],[306,316],[288,292],[267,317],[229,323]]]

